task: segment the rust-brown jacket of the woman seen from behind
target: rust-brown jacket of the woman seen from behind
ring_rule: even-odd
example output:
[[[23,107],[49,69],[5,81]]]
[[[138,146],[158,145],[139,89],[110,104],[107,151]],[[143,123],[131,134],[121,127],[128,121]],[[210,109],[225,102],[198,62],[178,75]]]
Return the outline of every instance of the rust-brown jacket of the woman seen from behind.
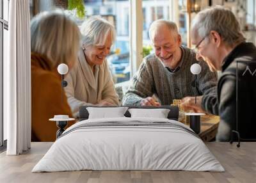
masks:
[[[51,61],[36,53],[31,53],[31,92],[32,92],[32,134],[31,141],[55,141],[54,115],[68,115],[72,112],[64,95],[62,102],[61,76]],[[68,126],[74,122],[68,122]]]

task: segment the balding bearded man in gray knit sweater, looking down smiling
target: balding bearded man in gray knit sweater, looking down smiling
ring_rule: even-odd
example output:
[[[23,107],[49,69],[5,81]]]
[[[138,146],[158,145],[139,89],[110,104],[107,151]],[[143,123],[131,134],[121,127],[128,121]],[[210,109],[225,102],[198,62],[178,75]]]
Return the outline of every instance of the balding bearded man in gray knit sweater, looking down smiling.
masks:
[[[143,59],[124,95],[123,105],[170,105],[173,99],[204,94],[204,97],[199,97],[198,102],[205,111],[214,111],[209,107],[212,107],[212,100],[216,100],[216,72],[211,72],[207,63],[196,60],[195,52],[181,45],[175,23],[156,20],[150,26],[149,35],[155,52]],[[202,67],[198,74],[197,87],[195,76],[190,72],[193,63]],[[153,95],[158,101],[152,98]]]

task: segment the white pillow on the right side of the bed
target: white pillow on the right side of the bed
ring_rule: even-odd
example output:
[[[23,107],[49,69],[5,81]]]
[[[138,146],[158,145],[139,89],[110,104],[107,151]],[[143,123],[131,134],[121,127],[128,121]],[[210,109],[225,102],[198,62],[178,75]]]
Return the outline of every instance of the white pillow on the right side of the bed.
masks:
[[[150,118],[167,118],[170,109],[128,109],[131,118],[150,117]]]

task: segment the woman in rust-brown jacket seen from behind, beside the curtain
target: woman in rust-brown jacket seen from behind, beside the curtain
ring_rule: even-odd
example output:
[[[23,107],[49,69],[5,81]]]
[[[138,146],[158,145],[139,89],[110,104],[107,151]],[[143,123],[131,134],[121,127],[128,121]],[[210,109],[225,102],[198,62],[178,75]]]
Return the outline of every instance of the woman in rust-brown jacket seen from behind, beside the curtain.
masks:
[[[31,20],[32,141],[55,141],[54,115],[72,112],[61,96],[60,63],[71,68],[77,58],[80,33],[62,11],[44,12]],[[72,125],[72,123],[69,123]]]

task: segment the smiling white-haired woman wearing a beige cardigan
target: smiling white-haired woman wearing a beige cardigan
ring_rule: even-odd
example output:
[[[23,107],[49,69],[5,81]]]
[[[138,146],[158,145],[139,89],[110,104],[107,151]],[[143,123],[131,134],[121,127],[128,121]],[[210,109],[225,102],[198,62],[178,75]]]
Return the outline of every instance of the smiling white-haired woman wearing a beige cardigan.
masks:
[[[90,17],[81,26],[82,47],[74,68],[66,77],[65,92],[75,117],[81,106],[115,106],[118,95],[106,56],[115,41],[115,29],[100,17]]]

